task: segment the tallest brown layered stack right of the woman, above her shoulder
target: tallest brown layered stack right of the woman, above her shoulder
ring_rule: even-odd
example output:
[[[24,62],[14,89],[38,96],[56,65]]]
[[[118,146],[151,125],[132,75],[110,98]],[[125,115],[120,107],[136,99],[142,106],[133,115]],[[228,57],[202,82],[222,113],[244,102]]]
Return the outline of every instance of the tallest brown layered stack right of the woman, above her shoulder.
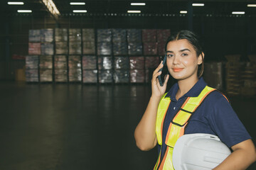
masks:
[[[228,60],[226,64],[226,91],[230,96],[237,96],[240,94],[240,87],[242,86],[240,55],[226,55],[225,58]]]

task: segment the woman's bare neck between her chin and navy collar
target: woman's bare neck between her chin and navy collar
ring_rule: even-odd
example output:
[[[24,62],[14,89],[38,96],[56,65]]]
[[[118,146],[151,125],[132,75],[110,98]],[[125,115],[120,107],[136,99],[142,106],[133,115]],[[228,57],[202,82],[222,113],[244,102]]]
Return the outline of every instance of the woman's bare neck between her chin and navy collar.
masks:
[[[181,96],[188,93],[188,91],[196,84],[197,81],[198,77],[190,77],[188,79],[178,80],[176,100],[178,101],[178,98],[181,98]]]

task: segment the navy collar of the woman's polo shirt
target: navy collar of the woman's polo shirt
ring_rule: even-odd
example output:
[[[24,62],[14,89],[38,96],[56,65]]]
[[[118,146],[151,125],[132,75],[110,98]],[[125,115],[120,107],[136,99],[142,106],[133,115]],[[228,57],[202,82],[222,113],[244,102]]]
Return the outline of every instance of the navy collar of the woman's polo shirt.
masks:
[[[203,77],[201,77],[196,82],[196,84],[186,94],[184,94],[184,96],[197,97],[201,93],[201,91],[206,87],[206,85],[207,85],[206,81],[204,81]],[[178,83],[174,84],[174,86],[171,87],[171,89],[168,91],[165,97],[170,97],[171,101],[176,101],[177,91],[178,91]]]

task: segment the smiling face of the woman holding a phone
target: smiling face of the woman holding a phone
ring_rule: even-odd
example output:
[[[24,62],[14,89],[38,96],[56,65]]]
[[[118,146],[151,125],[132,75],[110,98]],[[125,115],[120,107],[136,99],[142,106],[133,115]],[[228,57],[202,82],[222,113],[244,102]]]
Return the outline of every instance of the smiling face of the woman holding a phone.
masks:
[[[198,79],[198,64],[202,63],[202,55],[196,56],[196,50],[186,39],[174,40],[167,44],[166,64],[174,79],[183,80],[188,78]]]

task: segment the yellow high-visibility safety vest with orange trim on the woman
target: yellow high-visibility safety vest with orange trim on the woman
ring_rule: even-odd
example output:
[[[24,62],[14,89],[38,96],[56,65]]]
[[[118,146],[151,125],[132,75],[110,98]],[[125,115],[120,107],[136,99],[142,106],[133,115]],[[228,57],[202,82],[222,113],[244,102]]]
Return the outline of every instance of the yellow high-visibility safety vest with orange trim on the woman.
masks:
[[[199,96],[186,98],[186,101],[183,103],[178,113],[175,115],[174,119],[169,125],[168,132],[166,134],[166,140],[164,141],[167,145],[166,152],[163,159],[160,161],[160,150],[159,157],[157,159],[156,165],[154,166],[154,169],[174,170],[174,166],[172,164],[174,145],[178,138],[184,134],[184,129],[188,124],[188,120],[191,118],[191,115],[196,111],[196,108],[201,105],[204,98],[206,98],[206,96],[208,96],[208,94],[210,94],[212,91],[215,91],[215,89],[206,86],[203,91],[201,91]],[[156,137],[159,145],[162,145],[164,118],[171,103],[171,98],[165,97],[166,94],[164,94],[164,96],[161,98],[156,115]]]

